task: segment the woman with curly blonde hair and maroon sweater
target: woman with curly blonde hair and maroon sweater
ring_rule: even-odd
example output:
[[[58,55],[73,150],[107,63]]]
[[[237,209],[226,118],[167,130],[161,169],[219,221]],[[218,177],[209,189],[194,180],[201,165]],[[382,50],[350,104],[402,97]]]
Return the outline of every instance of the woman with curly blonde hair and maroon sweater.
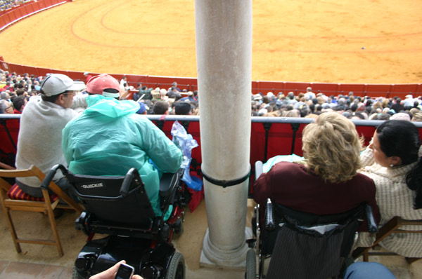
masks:
[[[293,210],[331,215],[369,203],[379,220],[372,179],[357,173],[362,143],[352,121],[337,113],[324,113],[303,130],[305,165],[276,163],[253,186],[264,221],[267,198]],[[361,230],[366,230],[362,224]]]

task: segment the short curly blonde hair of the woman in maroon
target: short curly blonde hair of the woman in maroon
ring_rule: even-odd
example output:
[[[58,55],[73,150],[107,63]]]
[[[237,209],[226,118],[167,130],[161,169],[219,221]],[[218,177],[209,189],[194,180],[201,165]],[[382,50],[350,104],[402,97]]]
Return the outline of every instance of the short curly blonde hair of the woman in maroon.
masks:
[[[326,182],[352,179],[361,167],[362,140],[349,119],[335,112],[320,114],[303,130],[307,166]]]

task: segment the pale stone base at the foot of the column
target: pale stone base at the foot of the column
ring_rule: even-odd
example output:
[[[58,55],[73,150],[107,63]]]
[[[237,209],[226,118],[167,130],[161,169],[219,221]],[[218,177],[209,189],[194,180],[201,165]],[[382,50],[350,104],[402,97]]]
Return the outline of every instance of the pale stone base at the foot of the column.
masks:
[[[246,227],[245,239],[249,238],[252,238],[252,229]],[[211,243],[207,229],[203,240],[203,250],[200,252],[199,265],[208,268],[245,269],[246,252],[248,252],[248,244],[246,243],[235,250],[219,249]]]

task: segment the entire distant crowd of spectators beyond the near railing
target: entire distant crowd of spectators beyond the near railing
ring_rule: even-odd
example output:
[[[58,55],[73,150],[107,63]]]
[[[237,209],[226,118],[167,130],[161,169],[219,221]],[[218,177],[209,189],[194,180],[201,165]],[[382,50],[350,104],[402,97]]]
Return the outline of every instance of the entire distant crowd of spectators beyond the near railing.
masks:
[[[0,70],[0,114],[19,113],[22,111],[20,100],[13,107],[13,99],[23,95],[28,99],[39,94],[42,76]],[[134,88],[131,86],[131,89]],[[198,91],[181,90],[177,82],[170,88],[147,88],[141,83],[132,90],[133,100],[141,104],[140,114],[182,114],[199,115]],[[124,95],[128,95],[127,93]],[[122,96],[123,97],[123,96]],[[23,98],[20,98],[23,99]],[[123,98],[124,99],[124,98]],[[24,104],[25,105],[25,104]],[[404,119],[422,121],[422,98],[409,94],[400,97],[360,97],[350,92],[348,95],[325,95],[313,93],[307,88],[305,93],[268,92],[251,94],[252,116],[271,117],[312,117],[325,111],[336,111],[349,119],[388,120]]]

